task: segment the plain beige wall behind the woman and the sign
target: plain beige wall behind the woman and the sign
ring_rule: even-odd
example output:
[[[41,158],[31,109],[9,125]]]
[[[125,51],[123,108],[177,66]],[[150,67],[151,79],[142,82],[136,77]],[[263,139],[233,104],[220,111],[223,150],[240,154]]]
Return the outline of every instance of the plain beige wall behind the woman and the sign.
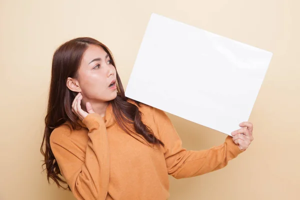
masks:
[[[126,86],[151,12],[273,52],[250,148],[218,171],[170,177],[170,199],[300,199],[299,8],[298,0],[0,0],[0,199],[73,199],[41,173],[54,49],[77,36],[100,40]],[[188,149],[225,138],[169,116]]]

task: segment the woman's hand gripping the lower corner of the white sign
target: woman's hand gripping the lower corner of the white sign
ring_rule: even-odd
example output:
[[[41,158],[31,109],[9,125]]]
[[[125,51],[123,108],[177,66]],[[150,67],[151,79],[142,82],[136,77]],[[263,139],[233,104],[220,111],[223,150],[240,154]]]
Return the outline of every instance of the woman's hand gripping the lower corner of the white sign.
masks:
[[[237,144],[241,150],[245,150],[254,139],[252,136],[253,124],[244,121],[241,122],[239,126],[242,128],[234,130],[231,132],[231,135],[233,136],[232,139],[234,143]]]

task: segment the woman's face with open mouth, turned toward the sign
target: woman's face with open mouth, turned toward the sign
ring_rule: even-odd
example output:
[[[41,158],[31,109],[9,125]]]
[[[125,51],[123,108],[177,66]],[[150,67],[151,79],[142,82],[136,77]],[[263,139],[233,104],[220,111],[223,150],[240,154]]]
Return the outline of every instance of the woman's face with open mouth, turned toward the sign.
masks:
[[[82,56],[77,78],[72,78],[72,81],[85,102],[104,102],[116,97],[116,71],[109,55],[99,45],[88,46]],[[70,84],[68,81],[69,88]]]

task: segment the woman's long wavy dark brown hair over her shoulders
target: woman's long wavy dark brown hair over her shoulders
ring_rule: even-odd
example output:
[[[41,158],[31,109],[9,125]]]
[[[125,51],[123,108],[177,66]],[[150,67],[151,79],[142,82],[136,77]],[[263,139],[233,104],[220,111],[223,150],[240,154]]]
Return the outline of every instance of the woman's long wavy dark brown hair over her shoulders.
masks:
[[[89,44],[101,46],[108,53],[112,60],[111,63],[115,67],[110,50],[101,42],[90,37],[71,39],[60,45],[53,54],[49,99],[40,152],[44,156],[44,163],[42,165],[45,165],[44,170],[47,172],[47,180],[49,181],[49,178],[53,179],[58,187],[63,187],[61,183],[66,182],[61,177],[58,164],[52,153],[50,134],[54,128],[66,121],[70,122],[72,128],[80,127],[80,124],[77,122],[77,116],[71,111],[71,104],[76,93],[67,88],[66,80],[67,77],[76,76],[82,55]],[[141,112],[138,109],[141,103],[131,99],[132,102],[135,102],[135,105],[127,101],[128,98],[124,94],[124,89],[117,72],[116,80],[117,96],[110,102],[117,124],[127,133],[130,132],[128,125],[133,125],[135,131],[142,135],[146,141],[163,146],[163,143],[154,136],[152,130],[141,121]]]

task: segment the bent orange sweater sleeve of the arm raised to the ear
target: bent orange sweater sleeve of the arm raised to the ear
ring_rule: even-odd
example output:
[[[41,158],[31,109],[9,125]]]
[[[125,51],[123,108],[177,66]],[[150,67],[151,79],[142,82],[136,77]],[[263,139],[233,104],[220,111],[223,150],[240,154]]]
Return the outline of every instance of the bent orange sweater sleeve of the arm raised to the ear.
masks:
[[[104,120],[89,113],[82,122],[88,128],[85,154],[69,137],[70,129],[56,128],[50,146],[60,172],[77,199],[105,199],[109,180],[109,148]]]

